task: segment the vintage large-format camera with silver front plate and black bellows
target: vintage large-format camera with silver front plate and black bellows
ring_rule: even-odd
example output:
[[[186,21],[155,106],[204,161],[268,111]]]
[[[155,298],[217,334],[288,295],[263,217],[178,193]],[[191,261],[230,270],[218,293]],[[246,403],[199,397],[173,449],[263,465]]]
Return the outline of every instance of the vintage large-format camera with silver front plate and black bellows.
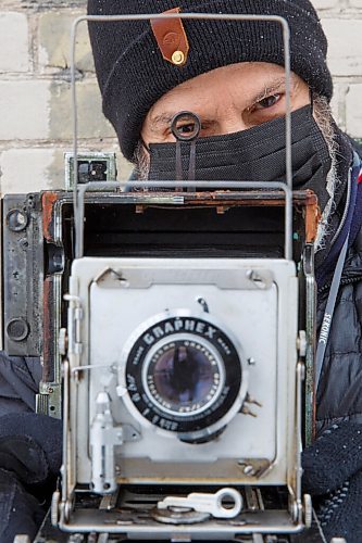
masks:
[[[3,199],[4,346],[41,357],[38,411],[63,413],[53,525],[157,541],[298,533],[312,519],[300,455],[316,197],[124,191],[109,161],[67,157],[89,189],[75,206],[71,191]]]

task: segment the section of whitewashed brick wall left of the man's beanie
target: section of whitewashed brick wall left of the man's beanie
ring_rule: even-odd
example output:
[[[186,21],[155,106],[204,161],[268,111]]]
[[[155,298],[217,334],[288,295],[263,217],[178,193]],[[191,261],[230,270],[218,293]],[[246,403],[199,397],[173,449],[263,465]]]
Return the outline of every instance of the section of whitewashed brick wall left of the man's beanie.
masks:
[[[64,187],[72,149],[70,28],[86,0],[1,0],[0,190]],[[118,151],[101,114],[86,24],[77,40],[80,149]],[[118,156],[120,174],[129,165]],[[123,173],[123,174],[122,174]]]

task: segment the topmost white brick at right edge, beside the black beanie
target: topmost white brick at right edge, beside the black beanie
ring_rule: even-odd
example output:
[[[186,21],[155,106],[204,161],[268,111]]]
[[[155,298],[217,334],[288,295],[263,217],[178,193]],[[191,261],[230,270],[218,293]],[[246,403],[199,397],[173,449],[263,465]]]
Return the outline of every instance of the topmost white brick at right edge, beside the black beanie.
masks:
[[[362,20],[325,18],[322,24],[328,37],[328,65],[333,75],[362,75]]]

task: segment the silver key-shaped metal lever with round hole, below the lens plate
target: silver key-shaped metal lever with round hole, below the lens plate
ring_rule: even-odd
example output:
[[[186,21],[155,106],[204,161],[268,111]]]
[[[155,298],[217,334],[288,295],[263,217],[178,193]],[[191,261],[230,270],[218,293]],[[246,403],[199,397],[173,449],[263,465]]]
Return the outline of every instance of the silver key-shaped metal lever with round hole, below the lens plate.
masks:
[[[226,501],[229,505],[227,507],[224,506]],[[198,513],[208,513],[215,518],[235,518],[242,509],[242,497],[237,490],[225,488],[215,494],[192,492],[187,497],[167,496],[158,503],[158,508],[194,509]]]

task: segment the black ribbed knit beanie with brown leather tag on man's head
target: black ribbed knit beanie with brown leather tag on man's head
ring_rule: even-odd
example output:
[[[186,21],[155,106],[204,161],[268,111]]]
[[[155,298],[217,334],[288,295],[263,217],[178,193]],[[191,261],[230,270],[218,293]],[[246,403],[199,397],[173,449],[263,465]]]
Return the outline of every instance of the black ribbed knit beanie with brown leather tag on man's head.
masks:
[[[162,13],[280,15],[289,24],[291,70],[316,93],[332,98],[327,40],[309,0],[88,0],[90,15]],[[184,21],[189,42],[185,65],[163,59],[148,21],[89,23],[103,112],[132,160],[143,119],[168,90],[211,70],[238,62],[284,65],[280,25],[270,22]]]

